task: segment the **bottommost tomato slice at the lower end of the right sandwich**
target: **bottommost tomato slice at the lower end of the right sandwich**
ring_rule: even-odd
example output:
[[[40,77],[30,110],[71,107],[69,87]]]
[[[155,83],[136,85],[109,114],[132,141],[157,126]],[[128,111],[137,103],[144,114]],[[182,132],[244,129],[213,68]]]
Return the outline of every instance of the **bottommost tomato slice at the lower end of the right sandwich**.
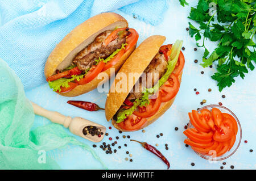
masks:
[[[118,123],[118,126],[126,131],[136,131],[141,128],[146,123],[146,121],[146,118],[138,117],[132,114],[127,117],[126,120]]]

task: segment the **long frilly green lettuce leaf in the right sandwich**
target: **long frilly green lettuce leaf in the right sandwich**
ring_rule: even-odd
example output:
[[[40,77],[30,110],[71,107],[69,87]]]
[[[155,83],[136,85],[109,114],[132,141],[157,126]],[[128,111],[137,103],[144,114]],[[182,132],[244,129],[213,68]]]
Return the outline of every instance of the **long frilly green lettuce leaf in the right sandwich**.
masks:
[[[182,40],[177,40],[172,46],[172,52],[168,58],[167,70],[163,77],[159,79],[158,83],[154,87],[151,87],[150,89],[144,89],[142,92],[142,97],[136,99],[134,101],[134,105],[131,108],[118,112],[117,123],[121,123],[123,120],[126,119],[127,116],[130,116],[138,106],[146,106],[149,103],[149,96],[154,94],[154,92],[158,91],[159,87],[161,87],[168,80],[172,71],[174,71],[175,69],[177,60],[179,59],[182,43]]]

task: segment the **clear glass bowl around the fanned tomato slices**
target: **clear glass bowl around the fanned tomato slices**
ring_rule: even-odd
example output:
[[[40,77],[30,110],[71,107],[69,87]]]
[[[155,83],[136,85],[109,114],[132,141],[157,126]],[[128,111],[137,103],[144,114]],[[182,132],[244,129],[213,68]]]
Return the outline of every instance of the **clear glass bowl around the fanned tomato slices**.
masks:
[[[201,153],[198,153],[197,151],[195,151],[195,152],[200,157],[202,157],[204,159],[208,159],[209,161],[222,161],[226,158],[229,158],[231,155],[233,155],[237,151],[238,147],[240,146],[241,140],[242,140],[242,128],[241,128],[241,124],[240,124],[237,116],[232,111],[230,111],[228,108],[226,108],[224,106],[219,106],[217,104],[211,104],[211,105],[204,106],[204,107],[200,108],[199,110],[197,110],[197,112],[200,113],[200,111],[203,110],[203,109],[207,109],[207,110],[211,111],[213,107],[218,108],[221,112],[229,113],[230,115],[232,115],[234,117],[234,119],[236,119],[237,126],[238,126],[238,132],[237,132],[237,135],[236,135],[236,142],[234,143],[232,149],[230,149],[225,154],[223,154],[219,157],[213,157],[212,155],[203,155]],[[194,128],[193,125],[191,124],[191,121],[189,121],[189,123],[188,123],[188,128]]]

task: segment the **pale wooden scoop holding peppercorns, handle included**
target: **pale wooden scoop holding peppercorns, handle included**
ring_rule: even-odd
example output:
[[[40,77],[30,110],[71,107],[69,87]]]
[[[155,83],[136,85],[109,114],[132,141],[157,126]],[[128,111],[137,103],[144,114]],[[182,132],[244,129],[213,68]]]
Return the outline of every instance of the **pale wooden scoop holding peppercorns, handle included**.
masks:
[[[48,111],[33,102],[31,102],[31,104],[34,108],[34,112],[36,115],[46,117],[47,119],[51,120],[52,123],[61,124],[65,128],[69,128],[69,131],[71,131],[71,133],[76,134],[77,136],[80,136],[82,138],[85,138],[86,140],[100,142],[106,133],[106,128],[103,125],[86,120],[82,117],[72,118],[70,116],[61,115],[61,113],[56,111]],[[102,134],[101,137],[98,137],[97,135],[92,136],[91,134],[84,135],[82,133],[82,130],[87,126],[97,127],[101,129],[101,132],[103,132],[104,134]]]

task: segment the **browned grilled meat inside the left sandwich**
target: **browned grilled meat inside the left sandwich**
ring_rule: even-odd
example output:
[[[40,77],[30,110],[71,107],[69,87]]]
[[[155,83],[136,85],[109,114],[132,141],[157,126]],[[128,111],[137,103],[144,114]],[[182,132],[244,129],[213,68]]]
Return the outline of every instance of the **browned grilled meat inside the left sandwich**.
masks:
[[[76,57],[73,59],[73,64],[77,65],[80,70],[87,70],[96,64],[94,60],[98,58],[107,58],[115,50],[122,47],[123,43],[126,43],[126,36],[129,35],[129,31],[121,32],[121,35],[117,39],[111,41],[107,46],[105,45],[105,39],[112,33],[112,31],[105,31],[98,35],[93,43],[89,44],[86,48],[82,49]]]

